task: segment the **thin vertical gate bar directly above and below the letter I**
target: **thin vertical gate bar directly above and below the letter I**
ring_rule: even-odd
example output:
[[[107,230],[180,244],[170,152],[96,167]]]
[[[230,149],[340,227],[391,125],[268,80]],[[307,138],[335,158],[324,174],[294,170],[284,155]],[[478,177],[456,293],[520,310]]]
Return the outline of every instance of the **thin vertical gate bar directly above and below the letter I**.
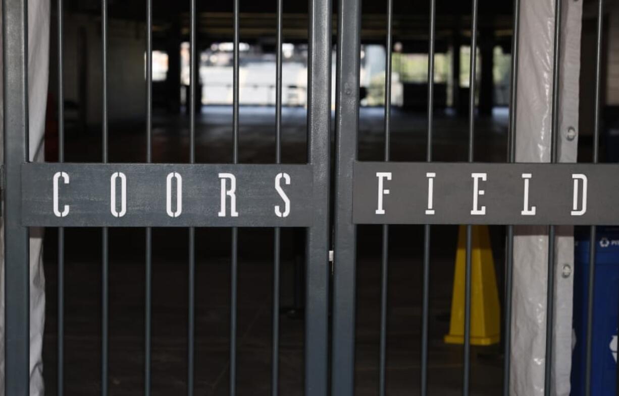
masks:
[[[432,162],[432,135],[434,128],[434,76],[436,44],[436,0],[430,0],[430,38],[428,40],[428,138],[426,161]],[[430,323],[430,224],[423,227],[423,298],[421,395],[428,394],[428,327]]]

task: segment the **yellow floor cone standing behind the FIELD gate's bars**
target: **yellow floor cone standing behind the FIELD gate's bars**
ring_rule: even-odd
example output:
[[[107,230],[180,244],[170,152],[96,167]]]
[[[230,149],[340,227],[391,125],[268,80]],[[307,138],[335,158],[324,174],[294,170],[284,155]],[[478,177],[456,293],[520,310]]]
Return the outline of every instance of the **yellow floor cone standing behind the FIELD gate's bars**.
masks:
[[[466,227],[458,230],[458,251],[451,322],[446,343],[464,343],[464,283],[466,274]],[[499,297],[496,289],[495,262],[487,225],[474,225],[471,251],[470,343],[492,345],[501,337]]]

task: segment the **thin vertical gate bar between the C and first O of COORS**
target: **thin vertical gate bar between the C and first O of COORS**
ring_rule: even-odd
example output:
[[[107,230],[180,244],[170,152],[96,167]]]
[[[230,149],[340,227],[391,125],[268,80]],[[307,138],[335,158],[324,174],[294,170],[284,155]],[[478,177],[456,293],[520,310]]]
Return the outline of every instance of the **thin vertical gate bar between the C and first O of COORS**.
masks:
[[[102,157],[108,162],[108,0],[102,8]],[[108,227],[102,229],[102,337],[101,337],[101,394],[108,394]]]

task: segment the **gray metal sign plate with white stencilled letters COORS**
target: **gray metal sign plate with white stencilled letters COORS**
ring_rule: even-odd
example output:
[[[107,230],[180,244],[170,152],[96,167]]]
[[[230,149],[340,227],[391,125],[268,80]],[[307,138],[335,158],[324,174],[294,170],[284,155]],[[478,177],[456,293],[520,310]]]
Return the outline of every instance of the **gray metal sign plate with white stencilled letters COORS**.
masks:
[[[22,164],[22,223],[308,227],[311,165]]]

